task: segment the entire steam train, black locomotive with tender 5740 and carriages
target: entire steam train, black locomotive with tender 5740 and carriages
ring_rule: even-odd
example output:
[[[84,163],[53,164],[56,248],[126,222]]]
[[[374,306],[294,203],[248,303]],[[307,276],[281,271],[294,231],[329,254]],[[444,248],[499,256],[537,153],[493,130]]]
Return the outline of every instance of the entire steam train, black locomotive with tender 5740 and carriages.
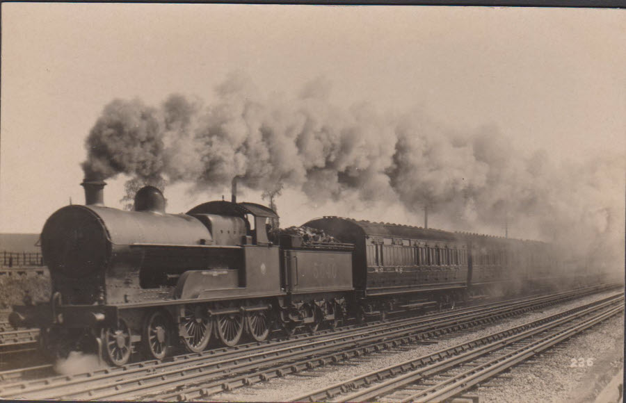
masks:
[[[86,205],[49,217],[41,246],[51,300],[10,314],[15,327],[39,327],[54,354],[97,351],[124,365],[133,352],[163,359],[181,344],[200,352],[212,338],[232,346],[566,277],[542,242],[342,217],[304,224],[336,242],[270,239],[266,222],[278,215],[235,195],[168,214],[147,186],[122,211],[104,206],[105,185],[83,181]]]

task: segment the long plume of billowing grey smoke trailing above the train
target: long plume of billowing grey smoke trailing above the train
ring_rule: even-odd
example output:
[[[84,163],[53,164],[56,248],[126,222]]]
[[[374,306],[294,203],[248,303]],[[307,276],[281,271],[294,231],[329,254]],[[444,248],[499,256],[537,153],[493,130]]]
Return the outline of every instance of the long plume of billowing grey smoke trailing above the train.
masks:
[[[416,217],[428,204],[438,227],[502,233],[508,220],[518,234],[619,265],[620,156],[556,165],[546,151],[522,155],[494,126],[461,133],[419,110],[389,116],[367,104],[339,108],[329,90],[318,79],[296,97],[264,97],[233,74],[209,105],[181,95],[158,107],[116,99],[88,136],[83,169],[89,178],[131,176],[134,190],[186,182],[220,191],[238,176],[241,186],[284,186],[318,203],[348,196],[401,203]]]

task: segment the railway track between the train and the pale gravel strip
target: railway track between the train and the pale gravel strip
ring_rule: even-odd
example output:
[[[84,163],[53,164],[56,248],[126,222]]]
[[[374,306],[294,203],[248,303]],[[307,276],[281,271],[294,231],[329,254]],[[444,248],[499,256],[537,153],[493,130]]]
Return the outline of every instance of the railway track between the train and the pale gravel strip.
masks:
[[[14,382],[0,388],[3,398],[67,400],[192,400],[239,386],[280,377],[388,347],[429,343],[428,338],[501,318],[552,306],[600,287],[551,296],[518,299],[496,306],[479,306],[422,316],[347,327],[315,336],[241,345],[174,357],[166,362],[144,361],[73,376]]]

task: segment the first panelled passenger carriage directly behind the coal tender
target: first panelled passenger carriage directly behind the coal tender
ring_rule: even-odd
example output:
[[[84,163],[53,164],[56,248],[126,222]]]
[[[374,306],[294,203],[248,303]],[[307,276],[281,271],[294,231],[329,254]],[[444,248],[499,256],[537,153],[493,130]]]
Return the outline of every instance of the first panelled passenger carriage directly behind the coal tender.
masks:
[[[355,245],[352,274],[362,315],[451,306],[465,299],[467,245],[454,233],[342,217],[304,225]]]

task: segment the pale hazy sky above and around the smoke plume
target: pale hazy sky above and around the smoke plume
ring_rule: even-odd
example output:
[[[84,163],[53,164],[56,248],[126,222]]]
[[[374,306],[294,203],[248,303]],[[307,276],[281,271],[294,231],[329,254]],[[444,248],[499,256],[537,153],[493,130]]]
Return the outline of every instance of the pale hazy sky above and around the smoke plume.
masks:
[[[233,71],[266,94],[323,77],[339,105],[493,124],[557,163],[626,151],[624,10],[2,3],[1,30],[0,232],[39,232],[83,203],[84,141],[109,101],[210,101]],[[176,213],[220,196],[166,190]],[[284,224],[334,213],[284,197]]]

